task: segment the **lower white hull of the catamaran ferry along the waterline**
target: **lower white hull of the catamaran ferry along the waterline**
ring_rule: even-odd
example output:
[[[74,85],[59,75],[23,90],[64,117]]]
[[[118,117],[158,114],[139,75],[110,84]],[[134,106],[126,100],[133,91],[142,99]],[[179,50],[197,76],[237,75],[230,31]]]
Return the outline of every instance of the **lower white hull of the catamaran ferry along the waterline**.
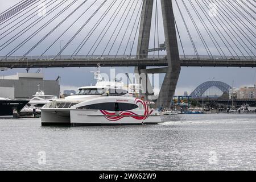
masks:
[[[162,123],[160,115],[112,115],[111,118],[116,118],[113,120],[100,111],[63,109],[43,109],[41,118],[42,126],[142,125]]]

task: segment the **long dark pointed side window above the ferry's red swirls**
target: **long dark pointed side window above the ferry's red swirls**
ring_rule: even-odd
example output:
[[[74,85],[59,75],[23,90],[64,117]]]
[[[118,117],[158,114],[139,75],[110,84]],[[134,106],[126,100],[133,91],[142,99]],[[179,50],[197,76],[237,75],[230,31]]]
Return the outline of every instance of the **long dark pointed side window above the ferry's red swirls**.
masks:
[[[129,103],[115,103],[106,102],[100,104],[92,104],[87,106],[79,107],[78,109],[92,109],[92,110],[108,110],[108,111],[126,111],[136,109],[138,106],[136,104]]]

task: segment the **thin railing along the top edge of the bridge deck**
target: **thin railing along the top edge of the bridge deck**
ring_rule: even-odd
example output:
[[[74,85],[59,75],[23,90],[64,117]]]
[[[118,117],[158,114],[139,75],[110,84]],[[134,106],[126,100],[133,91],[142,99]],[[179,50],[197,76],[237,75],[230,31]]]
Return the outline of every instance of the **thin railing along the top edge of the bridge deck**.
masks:
[[[10,56],[4,57],[0,56],[0,60],[9,60],[9,61],[29,61],[29,60],[159,60],[167,59],[166,55],[60,55],[57,56]],[[199,57],[195,55],[180,55],[180,60],[256,60],[256,57],[238,57],[238,56],[207,56],[200,55]]]

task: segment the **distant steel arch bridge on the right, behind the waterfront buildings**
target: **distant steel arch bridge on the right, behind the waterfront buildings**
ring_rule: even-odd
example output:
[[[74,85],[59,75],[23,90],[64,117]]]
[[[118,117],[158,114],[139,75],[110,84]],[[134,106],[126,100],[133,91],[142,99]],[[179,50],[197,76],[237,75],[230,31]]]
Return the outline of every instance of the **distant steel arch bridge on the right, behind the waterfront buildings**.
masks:
[[[197,88],[191,93],[192,98],[201,98],[203,97],[203,94],[212,86],[216,86],[218,89],[220,89],[223,93],[229,92],[230,89],[232,89],[231,86],[228,84],[222,82],[222,81],[207,81],[203,84],[197,86]]]

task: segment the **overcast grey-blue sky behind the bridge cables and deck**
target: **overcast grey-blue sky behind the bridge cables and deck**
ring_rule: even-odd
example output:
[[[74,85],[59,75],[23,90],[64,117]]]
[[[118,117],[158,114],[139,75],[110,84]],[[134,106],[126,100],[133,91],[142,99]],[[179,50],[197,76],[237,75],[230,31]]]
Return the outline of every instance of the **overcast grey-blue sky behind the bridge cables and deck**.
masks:
[[[117,14],[117,17],[113,19],[113,24],[110,26],[109,30],[106,32],[104,38],[102,38],[102,41],[99,43],[99,46],[96,48],[96,46],[93,47],[92,50],[95,49],[94,55],[101,55],[102,52],[105,49],[104,55],[108,54],[110,52],[110,55],[115,55],[118,53],[118,55],[122,55],[125,51],[126,48],[126,55],[129,55],[131,48],[132,53],[136,53],[137,49],[137,36],[138,33],[136,33],[135,29],[133,27],[137,27],[138,24],[138,19],[135,18],[137,17],[137,13],[139,12],[139,8],[141,5],[141,1],[122,1],[122,0],[117,0],[114,5],[111,7],[109,10],[108,14],[105,16],[105,18],[102,20],[102,22],[99,24],[99,26],[95,29],[93,32],[92,36],[89,36],[89,39],[86,41],[84,46],[81,48],[80,52],[78,55],[87,55],[90,48],[92,48],[94,42],[96,42],[97,38],[101,34],[101,31],[104,30],[104,27],[108,23],[108,20],[111,18],[111,16],[114,14],[115,10],[119,7],[121,7],[122,2],[124,3],[122,6],[122,9],[120,10],[120,13]],[[199,0],[198,2],[201,2],[202,0]],[[230,0],[231,2],[233,0]],[[0,6],[0,12],[5,11],[9,7],[15,5],[15,3],[18,3],[19,0],[12,0],[12,1],[3,1],[0,0],[1,6]],[[46,17],[43,18],[38,24],[35,24],[32,28],[29,28],[30,25],[35,22],[38,18],[42,18],[44,16],[39,16],[38,12],[36,11],[38,9],[38,5],[40,2],[46,3]],[[64,7],[67,7],[73,0],[67,0],[62,6],[59,7],[59,9],[56,9],[51,12],[51,9],[59,5],[59,3],[63,2],[62,0],[54,0],[54,1],[44,1],[44,0],[36,0],[35,5],[32,5],[31,7],[27,7],[26,10],[24,10],[21,14],[15,16],[13,19],[8,20],[7,22],[2,22],[0,24],[0,56],[6,56],[10,51],[12,51],[16,46],[18,46],[23,40],[27,39],[30,35],[32,35],[38,28],[42,27],[44,24],[46,24],[51,18],[53,18],[57,13],[60,13]],[[42,31],[39,31],[36,36],[34,36],[32,39],[30,39],[27,43],[25,43],[22,47],[20,47],[16,52],[14,52],[12,55],[16,56],[23,56],[24,53],[26,53],[28,50],[30,50],[31,47],[35,45],[35,43],[39,42],[40,39],[42,39],[44,36],[48,34],[49,31],[52,30],[58,23],[61,22],[65,17],[67,17],[73,10],[76,9],[76,7],[79,7],[81,3],[84,2],[83,0],[78,0],[74,5],[72,5],[67,11],[65,11],[63,14],[58,16],[55,20],[53,20],[51,23],[48,24],[45,28],[42,29]],[[92,5],[94,1],[93,0],[88,0],[87,2],[84,3],[78,9],[74,14],[72,14],[65,22],[63,22],[59,27],[56,28],[55,31],[52,32],[49,36],[47,36],[46,39],[43,40],[42,43],[40,43],[35,49],[33,49],[28,55],[41,55],[46,49],[55,42],[57,38],[71,24],[79,18],[82,13],[90,5]],[[98,7],[100,7],[101,3],[104,2],[104,0],[98,0],[96,3],[93,4],[92,8],[90,8],[86,13],[84,13],[80,19],[77,20],[76,23],[74,23],[71,28],[68,29],[67,32],[63,36],[61,36],[49,49],[44,55],[56,55],[59,51],[60,48],[63,48],[69,40],[72,38],[73,35],[76,34],[76,32],[81,28],[82,24],[84,24],[89,17],[96,11]],[[104,15],[104,12],[112,5],[112,0],[106,1],[106,3],[102,6],[102,8],[97,12],[93,18],[88,21],[88,23],[85,25],[84,28],[77,34],[77,36],[72,40],[72,42],[67,46],[67,48],[64,49],[62,55],[72,55],[72,53],[76,50],[76,48],[79,46],[79,44],[82,42],[84,38],[86,38],[86,35],[90,32],[94,24],[97,22],[97,20],[100,20],[100,17]],[[138,3],[137,3],[138,2]],[[189,39],[188,32],[186,30],[185,24],[183,22],[183,19],[179,13],[179,9],[174,2],[174,11],[175,11],[175,17],[176,17],[176,22],[177,22],[177,27],[179,30],[179,34],[181,37],[181,43],[183,44],[185,55],[192,55],[195,56],[195,49],[192,47],[192,42]],[[219,55],[218,51],[223,51],[225,55],[245,55],[245,56],[250,56],[250,55],[255,55],[256,51],[253,46],[255,46],[256,39],[255,39],[255,20],[249,15],[246,14],[245,11],[243,11],[243,15],[239,15],[240,20],[238,21],[234,16],[238,15],[236,11],[233,9],[232,5],[223,5],[222,1],[215,1],[214,6],[216,7],[216,10],[213,9],[213,11],[210,11],[213,15],[216,16],[211,16],[211,14],[208,12],[208,7],[212,7],[210,3],[213,1],[205,1],[206,5],[204,6],[205,10],[207,11],[207,15],[209,19],[213,19],[214,23],[216,26],[211,26],[205,16],[203,14],[203,11],[200,10],[200,7],[197,5],[197,1],[191,0],[195,8],[198,10],[199,15],[201,17],[204,17],[203,20],[205,21],[205,24],[209,27],[210,32],[212,32],[213,37],[217,40],[219,43],[219,46],[221,49],[216,49],[214,46],[212,39],[210,39],[209,32],[205,30],[205,27],[203,23],[200,22],[199,16],[197,16],[196,12],[193,11],[193,7],[189,3],[188,0],[184,0],[185,5],[188,7],[189,13],[191,13],[191,16],[193,17],[193,20],[195,21],[195,24],[197,27],[194,26],[193,20],[190,18],[189,14],[187,13],[185,6],[181,1],[177,1],[178,5],[181,9],[181,12],[183,14],[183,18],[185,22],[187,23],[187,27],[189,29],[189,33],[192,36],[193,42],[195,43],[197,52],[199,52],[199,55],[207,55],[207,49],[205,49],[203,41],[200,39],[200,35],[198,34],[196,28],[200,31],[203,40],[209,47],[210,53],[212,55]],[[253,7],[250,5],[250,3],[246,2],[246,5],[243,4],[240,1],[239,2],[240,6],[247,10],[249,13],[253,14],[253,11],[250,10],[250,7]],[[251,3],[255,2],[253,0],[250,1]],[[53,3],[52,5],[50,5]],[[121,4],[120,4],[121,3]],[[222,3],[222,5],[220,4]],[[233,2],[234,3],[234,2]],[[201,2],[201,5],[204,5],[203,2]],[[220,6],[221,5],[221,6]],[[236,6],[239,10],[241,10],[241,7],[239,7],[236,3],[233,4]],[[33,9],[34,8],[34,9]],[[131,9],[131,11],[128,13],[128,10]],[[29,11],[31,10],[31,11]],[[134,13],[133,13],[134,10]],[[223,12],[229,13],[224,14]],[[29,12],[28,12],[29,11]],[[35,14],[31,14],[33,11],[35,11]],[[228,12],[228,11],[231,11]],[[28,13],[27,13],[28,12]],[[24,14],[24,15],[23,15]],[[32,17],[35,15],[33,18],[25,22],[23,20],[26,16],[30,15],[29,17]],[[125,16],[127,14],[127,18],[125,19]],[[0,14],[1,15],[1,14]],[[160,10],[160,0],[158,0],[158,22],[159,22],[159,43],[164,42],[164,33],[163,33],[163,23],[162,23],[162,12]],[[255,15],[255,14],[254,14]],[[114,17],[114,16],[112,16]],[[122,17],[122,19],[121,19]],[[154,36],[157,35],[155,34],[155,5],[154,5],[154,13],[152,15],[152,28],[151,28],[151,37],[150,37],[150,47],[154,47]],[[129,20],[131,18],[130,24]],[[121,23],[118,24],[119,19],[121,19]],[[222,21],[222,22],[221,22]],[[218,24],[220,22],[220,24]],[[252,22],[254,24],[254,27],[251,26],[249,22]],[[123,26],[121,24],[123,23]],[[230,26],[229,26],[230,24]],[[240,26],[240,30],[236,29],[236,26]],[[13,28],[11,28],[13,27]],[[126,31],[127,27],[127,31]],[[14,40],[12,43],[7,45],[9,42],[12,41],[11,38],[15,38],[16,34],[20,34],[20,31],[24,31],[28,28],[27,32],[24,34],[20,35],[16,40]],[[226,31],[230,30],[232,33],[225,34],[225,31],[222,30],[224,28]],[[248,30],[249,29],[249,30]],[[132,31],[134,30],[134,31]],[[157,30],[157,28],[156,28]],[[222,33],[226,39],[229,45],[225,45],[224,42],[222,42],[220,36],[218,36],[218,32],[216,30],[222,30]],[[251,32],[253,32],[254,35],[251,35]],[[119,34],[118,34],[119,32]],[[126,32],[126,34],[125,34]],[[243,34],[245,32],[246,34]],[[114,33],[114,34],[113,34]],[[113,34],[113,38],[111,38]],[[129,35],[131,34],[131,37],[129,39]],[[219,33],[220,34],[220,33]],[[5,36],[6,35],[6,36]],[[124,35],[124,36],[123,36]],[[137,35],[137,36],[135,36]],[[114,39],[117,37],[117,39]],[[86,39],[85,39],[86,40]],[[115,40],[115,41],[114,41]],[[123,40],[123,41],[122,41]],[[133,40],[135,40],[133,42]],[[155,44],[157,45],[157,36],[155,39]],[[3,45],[5,42],[9,41],[7,44]],[[109,42],[109,44],[108,44]],[[180,40],[179,42],[179,51],[180,55],[183,54],[182,48],[181,48],[181,43]],[[226,44],[227,44],[226,42]],[[112,47],[113,43],[113,47]],[[108,46],[106,46],[108,44]],[[134,46],[132,46],[134,44]],[[253,46],[251,46],[253,44]],[[96,44],[97,45],[97,44]],[[118,47],[120,46],[119,51]],[[157,46],[155,46],[157,47]],[[233,49],[232,49],[233,48]],[[231,52],[228,50],[230,49]],[[241,50],[241,51],[240,51]],[[92,53],[92,51],[90,52]],[[165,52],[160,52],[161,54],[164,54]],[[250,55],[248,55],[249,53]],[[157,53],[156,53],[157,54]],[[42,69],[44,73],[44,77],[46,79],[56,79],[57,76],[61,76],[61,90],[63,89],[76,89],[79,86],[83,85],[88,85],[88,84],[94,84],[95,81],[93,79],[92,73],[90,71],[94,71],[96,68],[47,68],[47,69]],[[31,69],[30,72],[36,72],[37,69]],[[132,73],[134,68],[116,68],[116,73],[127,73],[130,72]],[[13,70],[8,70],[4,72],[0,72],[0,75],[13,75],[16,72],[24,72],[24,69],[13,69]],[[110,68],[102,68],[102,72],[109,73]],[[234,81],[234,86],[239,87],[239,86],[249,86],[253,85],[254,82],[256,81],[256,68],[182,68],[181,69],[181,74],[179,78],[179,82],[177,85],[177,90],[176,94],[183,94],[184,91],[187,91],[191,93],[192,89],[195,89],[196,86],[200,85],[201,83],[209,80],[217,80],[217,81],[224,81],[229,85],[232,85],[232,82]],[[160,78],[162,79],[164,75],[161,75]]]

